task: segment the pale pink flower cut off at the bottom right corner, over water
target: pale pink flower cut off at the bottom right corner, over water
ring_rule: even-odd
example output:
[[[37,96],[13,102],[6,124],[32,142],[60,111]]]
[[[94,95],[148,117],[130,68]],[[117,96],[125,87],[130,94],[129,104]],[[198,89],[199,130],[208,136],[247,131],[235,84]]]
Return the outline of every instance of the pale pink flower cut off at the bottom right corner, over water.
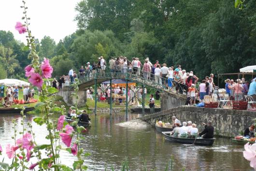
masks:
[[[250,166],[256,170],[256,144],[244,145],[243,157],[250,161]]]

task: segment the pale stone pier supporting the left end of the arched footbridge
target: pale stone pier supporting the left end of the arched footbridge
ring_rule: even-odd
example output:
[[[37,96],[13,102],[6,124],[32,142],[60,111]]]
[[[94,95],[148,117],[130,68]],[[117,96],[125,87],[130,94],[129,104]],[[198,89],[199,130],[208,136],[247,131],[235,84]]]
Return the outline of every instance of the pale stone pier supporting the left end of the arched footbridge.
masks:
[[[73,89],[62,89],[57,93],[57,95],[63,97],[63,100],[68,106],[73,106],[76,103],[76,98],[72,96],[73,93],[74,93]],[[85,88],[79,89],[77,105],[79,107],[85,106],[85,102],[86,102]]]

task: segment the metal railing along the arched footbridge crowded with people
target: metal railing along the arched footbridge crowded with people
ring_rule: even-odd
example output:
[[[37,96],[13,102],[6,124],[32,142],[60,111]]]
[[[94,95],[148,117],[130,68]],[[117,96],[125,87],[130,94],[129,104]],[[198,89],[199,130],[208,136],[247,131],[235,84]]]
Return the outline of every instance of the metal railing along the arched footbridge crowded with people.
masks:
[[[83,84],[85,82],[88,82],[94,79],[127,79],[136,83],[147,85],[151,88],[154,88],[160,91],[164,89],[168,89],[168,78],[159,77],[159,82],[156,82],[155,74],[152,74],[152,73],[144,74],[146,72],[142,70],[138,71],[137,68],[136,68],[137,72],[135,73],[133,69],[134,69],[133,67],[129,69],[128,66],[114,66],[114,67],[105,66],[105,67],[97,68],[94,71],[92,70],[89,74],[80,76],[79,84]],[[147,78],[144,78],[144,75],[149,75],[149,76]],[[170,79],[169,79],[169,82],[171,82],[171,84],[173,85],[170,91],[177,92],[177,89],[179,89],[180,94],[186,94],[184,90],[185,89],[184,85]]]

